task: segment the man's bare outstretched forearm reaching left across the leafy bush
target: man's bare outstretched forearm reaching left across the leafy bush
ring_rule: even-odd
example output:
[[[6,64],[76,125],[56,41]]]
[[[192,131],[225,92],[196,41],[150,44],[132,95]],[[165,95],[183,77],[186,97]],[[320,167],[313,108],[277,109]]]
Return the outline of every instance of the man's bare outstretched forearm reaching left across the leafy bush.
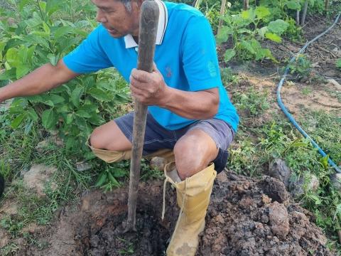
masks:
[[[45,64],[25,77],[1,87],[0,102],[13,97],[38,95],[67,82],[76,75],[65,68],[62,60],[57,66]]]

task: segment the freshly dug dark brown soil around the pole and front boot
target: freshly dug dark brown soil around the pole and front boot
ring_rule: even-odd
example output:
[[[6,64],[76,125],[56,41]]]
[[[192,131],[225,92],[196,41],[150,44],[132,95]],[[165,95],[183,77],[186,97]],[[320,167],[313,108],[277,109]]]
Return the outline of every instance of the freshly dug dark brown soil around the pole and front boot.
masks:
[[[60,220],[37,238],[45,250],[28,247],[21,255],[165,255],[178,218],[175,191],[163,183],[141,183],[136,233],[124,233],[128,189],[91,191],[80,206],[68,206]],[[291,203],[280,181],[252,180],[232,173],[217,176],[197,255],[332,255],[313,216]]]

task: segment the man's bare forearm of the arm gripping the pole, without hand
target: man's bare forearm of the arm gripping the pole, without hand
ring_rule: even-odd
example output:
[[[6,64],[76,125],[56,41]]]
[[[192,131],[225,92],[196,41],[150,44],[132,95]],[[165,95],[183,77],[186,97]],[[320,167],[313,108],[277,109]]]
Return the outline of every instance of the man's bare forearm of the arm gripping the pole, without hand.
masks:
[[[198,92],[185,92],[171,87],[160,107],[188,119],[210,119],[217,114],[219,92],[217,88]]]

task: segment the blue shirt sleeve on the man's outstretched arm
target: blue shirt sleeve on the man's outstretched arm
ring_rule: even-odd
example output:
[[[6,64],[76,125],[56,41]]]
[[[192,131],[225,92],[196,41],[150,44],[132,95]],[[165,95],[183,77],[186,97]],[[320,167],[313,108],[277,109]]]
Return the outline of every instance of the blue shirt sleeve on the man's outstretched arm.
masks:
[[[63,58],[67,68],[82,74],[112,67],[112,63],[100,44],[101,28],[102,26],[98,26],[82,41],[80,46]]]

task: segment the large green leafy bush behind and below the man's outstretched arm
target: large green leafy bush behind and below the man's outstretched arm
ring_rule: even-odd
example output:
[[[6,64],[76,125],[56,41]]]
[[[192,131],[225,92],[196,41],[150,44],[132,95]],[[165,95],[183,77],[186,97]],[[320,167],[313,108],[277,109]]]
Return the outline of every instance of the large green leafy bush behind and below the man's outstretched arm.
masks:
[[[56,0],[22,0],[17,8],[17,22],[0,21],[0,65],[5,68],[0,80],[17,80],[45,63],[55,65],[97,26],[89,20],[55,19],[62,8]],[[114,118],[117,105],[129,102],[128,90],[112,69],[83,75],[43,95],[13,100],[11,127],[25,125],[28,134],[41,122],[46,130],[58,130],[67,149],[87,151],[84,142],[92,126]]]

